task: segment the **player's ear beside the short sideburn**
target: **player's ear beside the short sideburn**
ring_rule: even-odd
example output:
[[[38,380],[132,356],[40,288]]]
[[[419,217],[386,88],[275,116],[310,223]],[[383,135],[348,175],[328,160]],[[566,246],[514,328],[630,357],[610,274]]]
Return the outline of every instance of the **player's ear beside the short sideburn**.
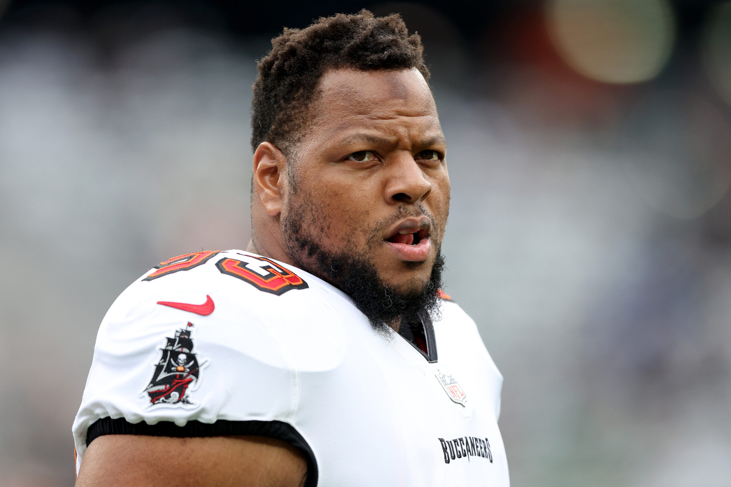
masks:
[[[270,142],[254,152],[254,190],[269,216],[277,216],[284,205],[287,158]]]

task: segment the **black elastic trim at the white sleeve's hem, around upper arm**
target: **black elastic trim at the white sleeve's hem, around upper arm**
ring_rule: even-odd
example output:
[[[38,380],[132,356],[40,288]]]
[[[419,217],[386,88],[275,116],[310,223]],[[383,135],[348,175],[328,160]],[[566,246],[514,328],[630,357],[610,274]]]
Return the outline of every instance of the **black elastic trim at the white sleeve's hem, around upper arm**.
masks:
[[[151,437],[228,437],[232,435],[266,437],[280,439],[300,450],[307,458],[307,480],[305,487],[317,486],[317,460],[315,454],[302,435],[292,425],[281,421],[229,421],[216,423],[188,421],[186,426],[178,426],[172,421],[160,421],[150,425],[128,423],[124,418],[102,418],[96,420],[86,431],[86,446],[94,439],[105,434],[143,434]]]

